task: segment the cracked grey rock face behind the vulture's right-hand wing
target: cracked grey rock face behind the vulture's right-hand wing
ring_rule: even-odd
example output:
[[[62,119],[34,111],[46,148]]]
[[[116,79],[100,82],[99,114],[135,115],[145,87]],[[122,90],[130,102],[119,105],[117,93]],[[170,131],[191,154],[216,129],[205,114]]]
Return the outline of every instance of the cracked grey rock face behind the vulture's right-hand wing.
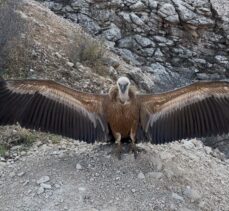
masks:
[[[228,77],[228,4],[227,0],[45,2],[57,14],[109,41],[111,50],[127,63],[141,67],[140,74],[154,81],[145,86],[148,91]]]

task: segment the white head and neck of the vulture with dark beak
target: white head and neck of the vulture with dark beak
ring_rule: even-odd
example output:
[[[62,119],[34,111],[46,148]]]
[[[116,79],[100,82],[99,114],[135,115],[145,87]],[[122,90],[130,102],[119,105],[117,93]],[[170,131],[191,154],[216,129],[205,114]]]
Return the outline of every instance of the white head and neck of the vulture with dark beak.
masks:
[[[130,80],[127,77],[120,77],[117,80],[117,86],[119,90],[119,97],[122,101],[127,101],[129,99],[129,86],[130,86]]]

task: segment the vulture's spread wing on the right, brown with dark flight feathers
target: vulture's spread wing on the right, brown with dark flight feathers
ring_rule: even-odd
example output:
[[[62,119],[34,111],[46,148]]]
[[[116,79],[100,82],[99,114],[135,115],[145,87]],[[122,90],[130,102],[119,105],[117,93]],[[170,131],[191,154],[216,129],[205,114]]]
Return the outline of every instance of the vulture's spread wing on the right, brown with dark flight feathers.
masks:
[[[198,82],[157,95],[138,95],[141,126],[152,143],[229,132],[229,83]]]

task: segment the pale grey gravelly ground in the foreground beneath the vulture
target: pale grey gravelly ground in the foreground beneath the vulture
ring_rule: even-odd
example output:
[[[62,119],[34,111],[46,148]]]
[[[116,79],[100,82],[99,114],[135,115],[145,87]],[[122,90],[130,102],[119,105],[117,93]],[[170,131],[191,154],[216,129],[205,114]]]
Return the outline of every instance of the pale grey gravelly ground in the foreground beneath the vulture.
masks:
[[[200,141],[118,160],[113,145],[40,137],[0,162],[1,210],[229,210],[229,162]]]

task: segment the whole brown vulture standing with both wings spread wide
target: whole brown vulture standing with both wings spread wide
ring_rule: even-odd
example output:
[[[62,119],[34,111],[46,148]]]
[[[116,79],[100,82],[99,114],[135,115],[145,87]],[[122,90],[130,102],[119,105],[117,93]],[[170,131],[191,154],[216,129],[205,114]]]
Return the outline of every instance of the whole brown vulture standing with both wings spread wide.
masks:
[[[163,144],[229,132],[229,82],[206,81],[159,94],[136,92],[120,77],[107,94],[77,91],[49,80],[1,80],[0,125],[76,140]]]

